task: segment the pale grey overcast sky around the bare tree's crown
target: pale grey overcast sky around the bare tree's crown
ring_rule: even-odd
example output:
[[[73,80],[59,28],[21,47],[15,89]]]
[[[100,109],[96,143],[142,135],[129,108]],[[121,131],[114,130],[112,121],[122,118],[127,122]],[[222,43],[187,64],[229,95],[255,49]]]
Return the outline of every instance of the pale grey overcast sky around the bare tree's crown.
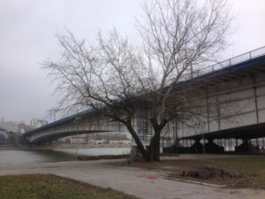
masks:
[[[265,46],[265,1],[230,0],[235,33],[228,57]],[[93,40],[98,29],[133,35],[138,0],[0,0],[0,117],[49,119],[56,104],[41,63],[58,60],[64,27]]]

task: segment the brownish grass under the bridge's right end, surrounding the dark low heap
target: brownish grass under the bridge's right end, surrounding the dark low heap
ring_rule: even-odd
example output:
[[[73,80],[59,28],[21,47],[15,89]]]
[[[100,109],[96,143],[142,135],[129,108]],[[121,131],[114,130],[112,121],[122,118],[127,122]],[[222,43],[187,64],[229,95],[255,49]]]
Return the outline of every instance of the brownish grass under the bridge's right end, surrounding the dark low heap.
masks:
[[[163,170],[171,178],[193,180],[217,185],[227,185],[231,188],[261,188],[265,189],[265,157],[222,157],[201,159],[179,159],[164,160],[160,163],[133,162],[130,165],[122,163],[119,165],[140,167],[148,170]],[[237,175],[236,178],[211,178],[199,179],[183,177],[181,173],[186,170],[197,170],[201,166],[215,166]]]

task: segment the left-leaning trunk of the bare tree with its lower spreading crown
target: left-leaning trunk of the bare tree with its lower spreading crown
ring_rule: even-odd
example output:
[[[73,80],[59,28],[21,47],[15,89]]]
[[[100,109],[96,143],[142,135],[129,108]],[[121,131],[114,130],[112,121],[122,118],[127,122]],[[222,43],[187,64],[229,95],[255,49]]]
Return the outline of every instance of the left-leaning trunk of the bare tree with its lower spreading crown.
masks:
[[[88,46],[69,31],[67,36],[57,38],[64,49],[61,61],[44,63],[49,77],[57,82],[56,92],[62,95],[57,110],[93,108],[121,122],[146,157],[146,149],[132,125],[137,109],[135,94],[141,89],[136,73],[146,73],[141,68],[140,52],[115,29],[107,39],[99,33],[96,44]]]

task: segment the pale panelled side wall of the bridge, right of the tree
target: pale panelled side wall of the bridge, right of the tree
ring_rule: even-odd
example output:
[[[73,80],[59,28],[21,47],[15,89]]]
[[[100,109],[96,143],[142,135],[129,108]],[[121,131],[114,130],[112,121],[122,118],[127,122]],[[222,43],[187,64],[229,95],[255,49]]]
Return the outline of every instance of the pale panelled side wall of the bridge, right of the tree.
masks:
[[[200,95],[196,93],[198,106],[193,109],[198,112],[204,109],[208,117],[191,118],[186,121],[190,126],[176,121],[178,138],[265,122],[264,77],[261,73],[219,86],[208,86],[207,93],[201,88]]]

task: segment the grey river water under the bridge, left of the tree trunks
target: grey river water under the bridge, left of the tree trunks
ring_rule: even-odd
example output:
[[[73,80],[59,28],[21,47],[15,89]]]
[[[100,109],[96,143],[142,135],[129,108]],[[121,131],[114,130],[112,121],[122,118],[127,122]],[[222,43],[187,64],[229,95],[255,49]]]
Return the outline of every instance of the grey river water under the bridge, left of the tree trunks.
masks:
[[[78,149],[78,156],[124,155],[129,148]],[[74,161],[76,149],[4,149],[0,150],[0,165],[19,165]]]

